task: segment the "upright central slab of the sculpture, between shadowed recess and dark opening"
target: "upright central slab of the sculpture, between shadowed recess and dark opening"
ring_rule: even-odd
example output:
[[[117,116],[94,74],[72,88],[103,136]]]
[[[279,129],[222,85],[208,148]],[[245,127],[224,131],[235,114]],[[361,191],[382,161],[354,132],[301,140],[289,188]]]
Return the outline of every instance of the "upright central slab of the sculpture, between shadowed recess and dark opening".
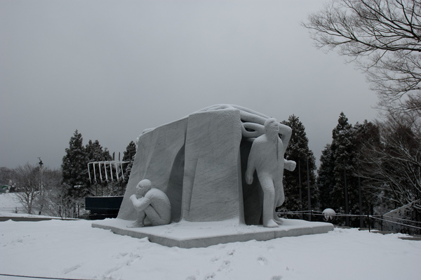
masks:
[[[243,222],[241,119],[237,109],[191,114],[187,124],[182,218]]]

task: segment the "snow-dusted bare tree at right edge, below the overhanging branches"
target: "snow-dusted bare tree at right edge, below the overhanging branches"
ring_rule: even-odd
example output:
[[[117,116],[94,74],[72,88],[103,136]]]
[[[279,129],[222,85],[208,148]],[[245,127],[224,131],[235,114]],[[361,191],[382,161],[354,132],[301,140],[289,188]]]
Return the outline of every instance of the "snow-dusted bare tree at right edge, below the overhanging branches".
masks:
[[[395,113],[377,122],[380,143],[366,142],[360,161],[361,175],[375,193],[387,194],[396,206],[414,203],[420,211],[421,132],[416,116]]]

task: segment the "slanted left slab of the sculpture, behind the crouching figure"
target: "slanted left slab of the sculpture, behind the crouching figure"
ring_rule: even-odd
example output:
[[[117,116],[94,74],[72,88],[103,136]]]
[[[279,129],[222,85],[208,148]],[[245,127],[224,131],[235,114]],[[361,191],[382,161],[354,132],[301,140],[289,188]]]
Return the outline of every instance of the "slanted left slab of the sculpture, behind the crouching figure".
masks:
[[[180,220],[184,145],[187,119],[174,121],[142,133],[118,218],[135,220],[136,212],[129,199],[143,179],[165,192],[171,202],[172,220]]]

